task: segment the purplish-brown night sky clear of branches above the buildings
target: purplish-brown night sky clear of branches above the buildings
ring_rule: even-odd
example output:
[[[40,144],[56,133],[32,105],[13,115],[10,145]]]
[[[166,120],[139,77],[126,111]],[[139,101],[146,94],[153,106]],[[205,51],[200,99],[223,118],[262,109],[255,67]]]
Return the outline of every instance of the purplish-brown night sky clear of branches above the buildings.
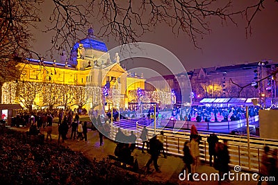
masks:
[[[248,1],[254,2],[254,1]],[[240,1],[237,3],[247,3]],[[252,4],[252,3],[251,3]],[[240,6],[243,6],[240,4]],[[51,9],[48,5],[42,12],[46,17],[40,27],[48,20]],[[211,19],[211,33],[197,39],[197,44],[202,49],[195,48],[188,35],[181,33],[178,37],[172,33],[172,29],[159,25],[153,33],[146,33],[140,41],[150,42],[165,47],[181,60],[187,71],[201,67],[218,67],[230,64],[242,64],[247,62],[259,62],[272,60],[278,62],[278,3],[274,0],[265,1],[265,9],[258,12],[252,22],[252,35],[245,34],[247,22],[245,17],[236,17],[237,26],[227,21],[222,24],[220,19]],[[238,8],[235,5],[235,8]],[[94,25],[97,26],[97,23]],[[97,28],[95,28],[97,30]],[[96,33],[96,31],[95,31]],[[83,39],[86,35],[81,35]],[[51,34],[35,33],[36,41],[33,44],[35,51],[51,60],[45,51],[51,46]],[[113,39],[102,38],[109,49],[117,46]],[[58,56],[57,56],[58,58]],[[57,61],[60,59],[58,58]]]

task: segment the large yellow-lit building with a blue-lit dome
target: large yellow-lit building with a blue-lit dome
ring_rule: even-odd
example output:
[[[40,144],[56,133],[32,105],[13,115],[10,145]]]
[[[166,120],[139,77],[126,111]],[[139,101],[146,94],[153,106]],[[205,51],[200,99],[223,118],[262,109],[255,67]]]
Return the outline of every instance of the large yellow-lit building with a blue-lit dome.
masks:
[[[127,107],[129,90],[145,89],[145,80],[130,76],[120,65],[117,53],[111,53],[115,55],[111,60],[107,52],[106,44],[89,28],[87,37],[74,44],[69,54],[63,51],[59,62],[28,58],[19,63],[20,78],[3,85],[2,103],[20,103],[27,109],[73,109],[85,107],[85,102],[92,108],[105,100],[105,109]],[[104,87],[108,91],[105,97]]]

